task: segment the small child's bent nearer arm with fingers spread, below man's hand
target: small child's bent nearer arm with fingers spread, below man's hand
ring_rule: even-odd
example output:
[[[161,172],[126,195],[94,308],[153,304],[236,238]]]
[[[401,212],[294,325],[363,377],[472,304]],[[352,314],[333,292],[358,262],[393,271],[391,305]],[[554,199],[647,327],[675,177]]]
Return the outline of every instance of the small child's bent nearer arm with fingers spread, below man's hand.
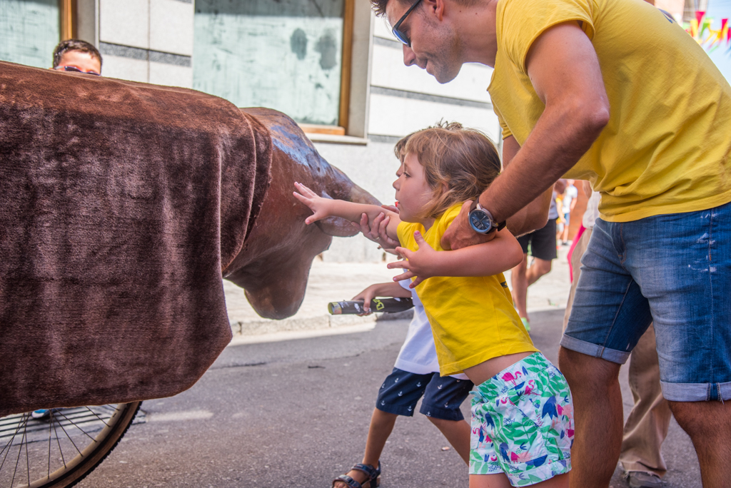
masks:
[[[523,261],[523,248],[509,230],[503,229],[488,243],[470,245],[457,251],[434,251],[420,232],[414,232],[418,251],[396,248],[406,261],[389,263],[388,267],[403,268],[404,274],[394,281],[414,278],[411,288],[432,276],[491,276],[510,270]]]

